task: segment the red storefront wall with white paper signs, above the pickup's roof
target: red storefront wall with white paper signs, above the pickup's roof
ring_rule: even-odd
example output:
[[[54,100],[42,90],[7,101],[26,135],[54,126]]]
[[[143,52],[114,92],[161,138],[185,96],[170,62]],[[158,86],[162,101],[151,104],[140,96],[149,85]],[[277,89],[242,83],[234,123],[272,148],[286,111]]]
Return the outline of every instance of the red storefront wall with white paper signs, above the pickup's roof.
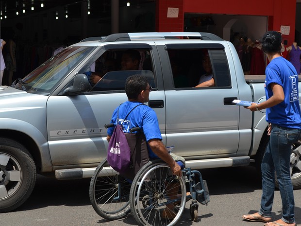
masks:
[[[168,7],[179,8],[179,16],[168,18]],[[295,41],[296,0],[157,0],[156,31],[183,32],[184,13],[268,16],[268,30],[290,26],[290,34],[283,38],[289,45]]]

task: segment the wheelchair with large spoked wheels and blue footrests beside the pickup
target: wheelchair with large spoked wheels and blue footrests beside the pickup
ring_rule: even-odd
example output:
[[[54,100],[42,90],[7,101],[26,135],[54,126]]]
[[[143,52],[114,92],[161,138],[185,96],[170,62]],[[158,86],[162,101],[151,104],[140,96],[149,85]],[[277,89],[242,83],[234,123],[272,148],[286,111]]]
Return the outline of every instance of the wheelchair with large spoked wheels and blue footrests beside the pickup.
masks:
[[[208,187],[199,171],[183,166],[182,173],[175,176],[163,160],[151,159],[130,180],[113,170],[104,158],[91,178],[90,201],[107,220],[131,213],[139,226],[173,226],[180,220],[186,200],[191,199],[190,217],[197,222],[198,202],[209,202]]]

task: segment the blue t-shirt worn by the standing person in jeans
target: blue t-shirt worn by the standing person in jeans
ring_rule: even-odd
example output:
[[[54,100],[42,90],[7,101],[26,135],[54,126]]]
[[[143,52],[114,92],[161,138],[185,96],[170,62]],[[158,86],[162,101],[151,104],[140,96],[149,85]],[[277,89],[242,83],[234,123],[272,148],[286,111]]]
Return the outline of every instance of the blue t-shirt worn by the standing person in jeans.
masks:
[[[283,87],[284,101],[267,108],[267,122],[286,128],[301,129],[298,74],[294,66],[281,56],[274,58],[266,68],[265,90],[267,99],[273,95],[271,83]]]

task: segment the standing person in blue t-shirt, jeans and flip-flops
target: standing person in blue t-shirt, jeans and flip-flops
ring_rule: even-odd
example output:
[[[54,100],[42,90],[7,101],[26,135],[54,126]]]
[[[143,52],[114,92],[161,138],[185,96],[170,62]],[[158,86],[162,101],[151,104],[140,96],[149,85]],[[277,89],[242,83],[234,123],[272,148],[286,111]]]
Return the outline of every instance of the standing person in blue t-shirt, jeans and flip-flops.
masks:
[[[281,56],[282,35],[269,31],[263,36],[262,49],[269,64],[266,68],[266,101],[246,107],[251,111],[266,110],[270,140],[263,156],[261,208],[257,213],[243,215],[247,221],[269,222],[266,226],[296,226],[294,193],[289,163],[291,146],[301,133],[298,75],[295,67]],[[275,190],[275,172],[282,200],[282,218],[271,221]]]

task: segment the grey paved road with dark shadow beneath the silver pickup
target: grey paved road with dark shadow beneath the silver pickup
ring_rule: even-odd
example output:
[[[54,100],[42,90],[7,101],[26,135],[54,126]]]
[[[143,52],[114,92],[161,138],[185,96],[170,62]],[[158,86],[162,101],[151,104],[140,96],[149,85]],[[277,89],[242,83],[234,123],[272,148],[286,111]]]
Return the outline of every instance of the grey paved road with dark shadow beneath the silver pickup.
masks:
[[[199,222],[189,220],[189,202],[178,226],[263,226],[244,222],[241,216],[259,208],[261,179],[251,166],[201,171],[210,191],[208,206],[199,206]],[[58,181],[38,176],[33,194],[19,209],[0,214],[0,226],[124,226],[134,218],[107,221],[89,202],[90,180]],[[295,213],[301,225],[301,190],[295,191]],[[275,193],[273,219],[281,217],[279,191]]]

